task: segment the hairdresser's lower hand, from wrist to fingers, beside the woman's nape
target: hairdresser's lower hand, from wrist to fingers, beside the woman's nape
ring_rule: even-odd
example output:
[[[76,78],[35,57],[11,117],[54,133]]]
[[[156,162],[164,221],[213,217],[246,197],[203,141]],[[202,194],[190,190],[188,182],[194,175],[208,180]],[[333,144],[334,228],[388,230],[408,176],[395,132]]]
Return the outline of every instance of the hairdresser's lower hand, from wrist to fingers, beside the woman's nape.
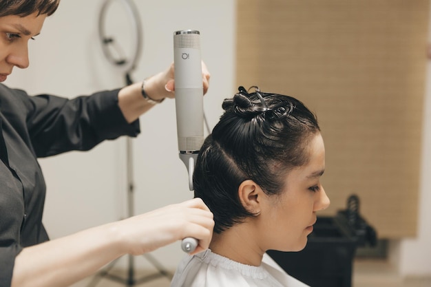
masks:
[[[200,198],[172,204],[115,223],[125,253],[141,255],[185,237],[199,240],[192,254],[209,247],[213,213]]]

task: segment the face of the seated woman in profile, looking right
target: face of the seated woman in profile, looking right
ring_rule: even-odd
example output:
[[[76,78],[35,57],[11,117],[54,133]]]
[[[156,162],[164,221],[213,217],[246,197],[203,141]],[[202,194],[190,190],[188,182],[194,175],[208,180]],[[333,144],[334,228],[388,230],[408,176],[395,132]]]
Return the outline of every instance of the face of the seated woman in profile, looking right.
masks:
[[[313,231],[316,211],[326,209],[329,199],[320,184],[325,169],[325,147],[320,134],[310,142],[308,164],[286,176],[280,195],[269,196],[261,211],[264,251],[300,251]],[[263,230],[262,230],[263,229]]]

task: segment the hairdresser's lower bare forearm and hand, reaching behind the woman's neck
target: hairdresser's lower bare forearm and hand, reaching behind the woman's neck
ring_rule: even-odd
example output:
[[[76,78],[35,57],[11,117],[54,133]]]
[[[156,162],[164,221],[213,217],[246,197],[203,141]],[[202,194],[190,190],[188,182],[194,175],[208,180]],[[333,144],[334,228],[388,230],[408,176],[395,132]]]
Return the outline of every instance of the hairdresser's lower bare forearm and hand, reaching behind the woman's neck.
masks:
[[[202,200],[173,204],[118,222],[24,248],[15,259],[12,287],[70,286],[112,260],[141,255],[184,237],[209,246],[213,215]]]

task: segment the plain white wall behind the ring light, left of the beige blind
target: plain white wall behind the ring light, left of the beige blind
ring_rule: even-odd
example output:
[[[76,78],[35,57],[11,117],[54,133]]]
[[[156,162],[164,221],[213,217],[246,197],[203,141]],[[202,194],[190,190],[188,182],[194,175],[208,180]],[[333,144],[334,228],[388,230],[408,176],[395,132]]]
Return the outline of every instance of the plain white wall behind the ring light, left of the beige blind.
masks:
[[[6,85],[20,87],[29,94],[67,97],[123,85],[123,74],[107,63],[99,45],[97,15],[102,2],[62,0],[59,10],[45,21],[42,33],[30,43],[30,67],[14,70]],[[211,72],[204,109],[213,127],[222,113],[222,99],[235,90],[235,1],[135,3],[145,43],[138,68],[132,74],[134,81],[165,70],[174,61],[174,31],[199,30],[202,60]],[[126,23],[123,26],[127,32],[125,13],[114,11],[123,6],[109,7],[107,27]],[[124,47],[127,51],[130,48],[129,44]],[[165,100],[140,118],[143,133],[133,140],[136,213],[193,197],[187,169],[178,158],[175,116],[174,100]],[[50,237],[125,216],[125,148],[125,139],[119,139],[103,142],[89,152],[40,160],[48,185],[43,221]],[[164,266],[175,268],[183,254],[178,243],[156,251],[154,256]]]

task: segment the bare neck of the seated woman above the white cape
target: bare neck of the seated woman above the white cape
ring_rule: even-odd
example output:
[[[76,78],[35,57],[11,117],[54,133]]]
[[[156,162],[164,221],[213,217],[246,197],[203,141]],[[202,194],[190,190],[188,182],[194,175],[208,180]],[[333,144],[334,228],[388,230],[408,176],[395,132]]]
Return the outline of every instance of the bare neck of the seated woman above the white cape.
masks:
[[[232,226],[222,233],[214,233],[209,248],[213,253],[235,262],[260,266],[265,253],[246,223]]]

